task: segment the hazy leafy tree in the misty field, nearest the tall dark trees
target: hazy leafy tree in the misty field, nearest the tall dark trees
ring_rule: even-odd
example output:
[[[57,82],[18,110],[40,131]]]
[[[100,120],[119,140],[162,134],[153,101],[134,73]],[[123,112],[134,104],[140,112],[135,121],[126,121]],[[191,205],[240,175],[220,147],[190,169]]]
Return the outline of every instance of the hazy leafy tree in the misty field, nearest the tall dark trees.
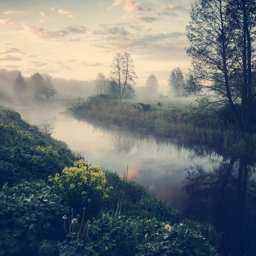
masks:
[[[174,68],[171,71],[167,81],[168,81],[169,91],[174,89],[175,95],[180,96],[182,94],[182,91],[185,85],[182,70],[179,67]]]

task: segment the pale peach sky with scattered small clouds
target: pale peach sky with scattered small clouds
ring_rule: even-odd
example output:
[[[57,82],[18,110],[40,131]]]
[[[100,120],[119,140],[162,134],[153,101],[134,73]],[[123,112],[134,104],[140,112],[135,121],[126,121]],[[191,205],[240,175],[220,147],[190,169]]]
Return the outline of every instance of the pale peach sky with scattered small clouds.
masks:
[[[191,0],[1,0],[0,68],[64,79],[109,75],[113,56],[131,54],[137,85],[187,72]]]

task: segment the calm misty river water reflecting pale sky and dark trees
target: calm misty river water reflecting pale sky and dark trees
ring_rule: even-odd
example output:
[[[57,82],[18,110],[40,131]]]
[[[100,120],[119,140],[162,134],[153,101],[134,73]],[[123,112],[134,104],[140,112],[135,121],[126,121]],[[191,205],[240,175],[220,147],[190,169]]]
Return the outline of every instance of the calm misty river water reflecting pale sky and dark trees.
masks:
[[[256,160],[173,138],[144,135],[119,127],[79,121],[39,109],[18,110],[31,123],[57,116],[52,136],[88,162],[124,174],[166,197],[184,218],[209,221],[225,236],[220,253],[256,255]]]

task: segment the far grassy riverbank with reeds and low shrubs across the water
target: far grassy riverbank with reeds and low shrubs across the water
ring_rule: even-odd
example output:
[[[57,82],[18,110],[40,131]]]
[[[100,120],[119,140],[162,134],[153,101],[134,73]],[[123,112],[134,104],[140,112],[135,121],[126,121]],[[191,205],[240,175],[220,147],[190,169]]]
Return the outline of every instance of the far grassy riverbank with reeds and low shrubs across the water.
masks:
[[[112,123],[130,130],[162,136],[174,136],[185,143],[195,143],[256,157],[256,134],[242,134],[232,118],[215,110],[196,112],[188,102],[159,99],[135,103],[114,101],[94,95],[69,108],[79,118]]]

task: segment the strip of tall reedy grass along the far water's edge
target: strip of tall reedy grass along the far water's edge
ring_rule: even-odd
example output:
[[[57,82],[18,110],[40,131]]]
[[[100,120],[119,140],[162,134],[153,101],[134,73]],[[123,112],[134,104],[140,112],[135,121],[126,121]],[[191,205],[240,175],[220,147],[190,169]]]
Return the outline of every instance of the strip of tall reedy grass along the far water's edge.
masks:
[[[72,109],[71,109],[72,110]],[[256,134],[242,134],[236,129],[226,129],[223,126],[196,125],[187,118],[179,118],[179,114],[171,116],[176,121],[156,119],[151,113],[128,115],[97,111],[95,109],[79,108],[73,110],[79,118],[89,118],[105,123],[116,124],[129,130],[143,133],[172,136],[185,143],[208,145],[238,155],[256,157]]]

